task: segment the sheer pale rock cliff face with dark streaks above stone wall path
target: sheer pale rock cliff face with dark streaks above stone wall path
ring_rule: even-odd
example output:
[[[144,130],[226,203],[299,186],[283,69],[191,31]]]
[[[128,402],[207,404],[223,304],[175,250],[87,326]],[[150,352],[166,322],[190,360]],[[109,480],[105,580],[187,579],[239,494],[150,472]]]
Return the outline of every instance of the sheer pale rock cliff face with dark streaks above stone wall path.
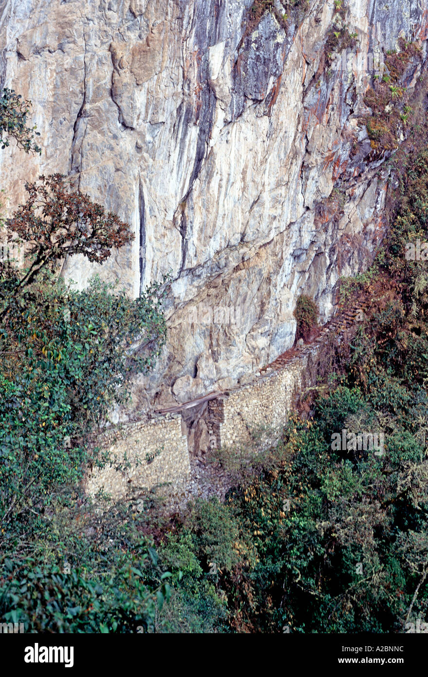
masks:
[[[0,0],[0,85],[32,100],[43,139],[41,158],[0,155],[10,206],[22,177],[70,175],[135,233],[104,278],[137,295],[172,271],[169,342],[135,380],[139,410],[275,359],[293,344],[297,296],[330,319],[339,276],[364,270],[382,238],[390,153],[368,138],[364,93],[399,37],[421,46],[404,75],[414,91],[428,0],[260,5]],[[358,58],[337,62],[335,32]],[[93,271],[63,267],[80,286]]]

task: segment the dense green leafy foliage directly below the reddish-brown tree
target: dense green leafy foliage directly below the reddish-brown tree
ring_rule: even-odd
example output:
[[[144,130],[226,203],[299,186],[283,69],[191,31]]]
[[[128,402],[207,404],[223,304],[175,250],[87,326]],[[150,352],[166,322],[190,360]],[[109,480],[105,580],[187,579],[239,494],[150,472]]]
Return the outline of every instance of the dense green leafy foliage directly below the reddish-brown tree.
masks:
[[[94,278],[77,292],[46,276],[25,304],[10,299],[0,331],[2,524],[79,481],[91,433],[163,346],[158,286],[136,301],[112,287]]]

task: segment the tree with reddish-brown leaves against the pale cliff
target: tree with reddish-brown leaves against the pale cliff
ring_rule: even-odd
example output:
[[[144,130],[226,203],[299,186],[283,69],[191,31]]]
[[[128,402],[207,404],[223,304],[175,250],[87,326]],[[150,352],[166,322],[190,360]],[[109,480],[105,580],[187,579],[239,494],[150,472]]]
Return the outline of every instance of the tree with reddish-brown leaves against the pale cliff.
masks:
[[[28,200],[6,222],[8,236],[18,236],[25,243],[30,261],[18,289],[67,256],[83,254],[91,262],[102,263],[114,248],[133,240],[127,223],[89,196],[70,190],[62,174],[41,176],[25,188]]]

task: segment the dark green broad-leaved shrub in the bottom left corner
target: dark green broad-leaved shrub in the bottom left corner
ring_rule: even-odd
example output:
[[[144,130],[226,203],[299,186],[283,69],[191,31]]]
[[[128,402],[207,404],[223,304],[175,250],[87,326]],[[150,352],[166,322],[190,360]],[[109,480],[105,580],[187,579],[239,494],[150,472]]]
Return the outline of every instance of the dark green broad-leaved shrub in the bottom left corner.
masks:
[[[3,559],[0,618],[23,623],[24,632],[137,632],[153,625],[156,597],[135,567],[102,583],[79,569],[41,565],[33,558]]]

